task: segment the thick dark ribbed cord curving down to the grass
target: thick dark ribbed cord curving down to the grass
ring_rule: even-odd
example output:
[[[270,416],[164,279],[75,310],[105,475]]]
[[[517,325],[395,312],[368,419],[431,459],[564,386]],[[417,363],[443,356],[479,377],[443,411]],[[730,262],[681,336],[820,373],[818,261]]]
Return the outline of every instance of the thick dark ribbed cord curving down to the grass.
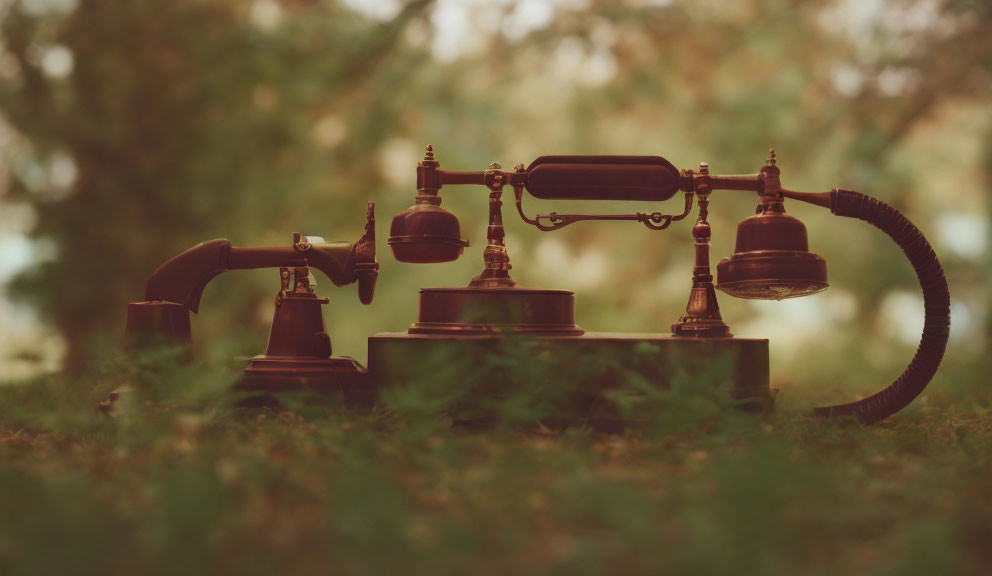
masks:
[[[873,424],[905,408],[923,392],[937,372],[951,327],[951,297],[944,270],[930,243],[898,210],[870,196],[835,189],[830,192],[830,211],[838,216],[864,220],[888,234],[906,254],[923,289],[926,311],[923,336],[906,371],[888,388],[868,398],[816,409],[817,414],[853,415],[863,424]]]

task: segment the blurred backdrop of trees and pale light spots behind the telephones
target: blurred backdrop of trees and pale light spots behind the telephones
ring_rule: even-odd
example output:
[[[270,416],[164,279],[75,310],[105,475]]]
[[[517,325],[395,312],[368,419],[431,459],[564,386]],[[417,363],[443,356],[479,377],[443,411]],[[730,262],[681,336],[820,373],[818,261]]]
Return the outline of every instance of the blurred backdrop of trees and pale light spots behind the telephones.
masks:
[[[0,380],[93,369],[148,274],[190,246],[288,245],[294,231],[354,241],[374,201],[374,303],[318,278],[335,352],[364,360],[368,336],[414,320],[418,288],[481,268],[483,189],[443,193],[472,242],[459,261],[388,252],[427,143],[452,170],[651,154],[741,173],[774,147],[787,187],[862,191],[924,231],[952,295],[935,382],[985,380],[988,2],[0,0],[0,18]],[[714,265],[754,200],[713,197]],[[541,233],[507,208],[515,278],[575,290],[587,330],[667,332],[683,310],[691,220]],[[831,288],[781,303],[721,295],[725,320],[771,340],[774,385],[831,401],[881,388],[922,327],[909,264],[863,223],[789,209]],[[214,280],[197,350],[263,350],[277,288],[273,270]]]

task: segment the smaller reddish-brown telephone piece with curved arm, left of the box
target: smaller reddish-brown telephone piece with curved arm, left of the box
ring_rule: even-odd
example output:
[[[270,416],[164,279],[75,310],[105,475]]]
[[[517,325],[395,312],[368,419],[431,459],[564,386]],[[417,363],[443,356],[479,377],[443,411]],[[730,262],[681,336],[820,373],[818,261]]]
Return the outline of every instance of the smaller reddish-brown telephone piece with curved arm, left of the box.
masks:
[[[285,388],[352,382],[365,369],[348,357],[331,356],[321,305],[310,270],[326,275],[335,286],[358,282],[358,297],[372,302],[379,263],[375,259],[375,205],[369,203],[365,234],[349,242],[293,234],[290,246],[243,248],[227,240],[211,240],[173,257],[148,278],[145,301],[128,305],[125,334],[131,341],[167,344],[190,342],[189,313],[197,312],[207,283],[228,270],[279,268],[281,286],[265,354],[245,368],[247,388]]]

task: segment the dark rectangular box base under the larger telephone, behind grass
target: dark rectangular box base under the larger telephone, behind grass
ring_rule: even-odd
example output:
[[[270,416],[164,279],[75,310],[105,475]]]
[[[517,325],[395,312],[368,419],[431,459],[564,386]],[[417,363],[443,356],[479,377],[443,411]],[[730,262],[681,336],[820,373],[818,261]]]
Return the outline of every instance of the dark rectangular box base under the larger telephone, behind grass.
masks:
[[[377,388],[452,382],[464,395],[448,407],[456,422],[486,420],[512,390],[538,403],[553,402],[549,426],[591,424],[621,429],[638,417],[625,414],[613,394],[632,392],[631,379],[668,390],[694,382],[710,398],[752,411],[771,408],[768,340],[680,338],[665,334],[417,334],[369,338],[369,374]],[[544,417],[548,417],[545,414]]]

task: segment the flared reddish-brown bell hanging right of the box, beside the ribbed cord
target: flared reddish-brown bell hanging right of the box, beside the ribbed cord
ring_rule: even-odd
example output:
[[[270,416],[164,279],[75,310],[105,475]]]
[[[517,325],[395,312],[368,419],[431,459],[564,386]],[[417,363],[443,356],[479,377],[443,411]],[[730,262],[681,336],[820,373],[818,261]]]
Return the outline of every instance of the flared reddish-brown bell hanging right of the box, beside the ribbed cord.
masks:
[[[827,263],[809,251],[806,226],[781,201],[737,225],[737,245],[717,264],[717,289],[737,298],[782,300],[825,290]]]

